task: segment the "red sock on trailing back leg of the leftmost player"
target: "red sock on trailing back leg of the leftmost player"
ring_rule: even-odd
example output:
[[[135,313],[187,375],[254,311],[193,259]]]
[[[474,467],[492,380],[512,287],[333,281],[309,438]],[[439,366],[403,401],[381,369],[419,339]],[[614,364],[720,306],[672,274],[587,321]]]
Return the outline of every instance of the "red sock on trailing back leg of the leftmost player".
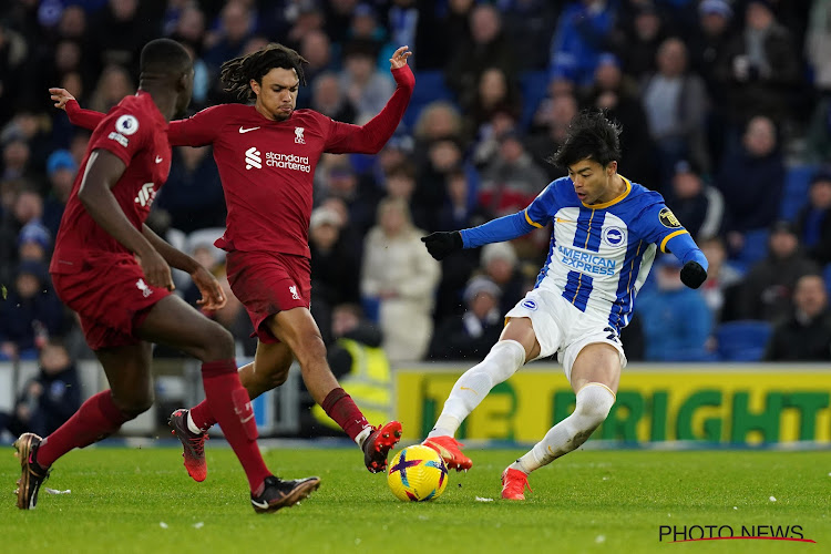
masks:
[[[82,449],[106,438],[131,419],[115,406],[111,391],[103,390],[81,404],[64,424],[40,443],[37,462],[42,468],[49,468],[70,450]]]

